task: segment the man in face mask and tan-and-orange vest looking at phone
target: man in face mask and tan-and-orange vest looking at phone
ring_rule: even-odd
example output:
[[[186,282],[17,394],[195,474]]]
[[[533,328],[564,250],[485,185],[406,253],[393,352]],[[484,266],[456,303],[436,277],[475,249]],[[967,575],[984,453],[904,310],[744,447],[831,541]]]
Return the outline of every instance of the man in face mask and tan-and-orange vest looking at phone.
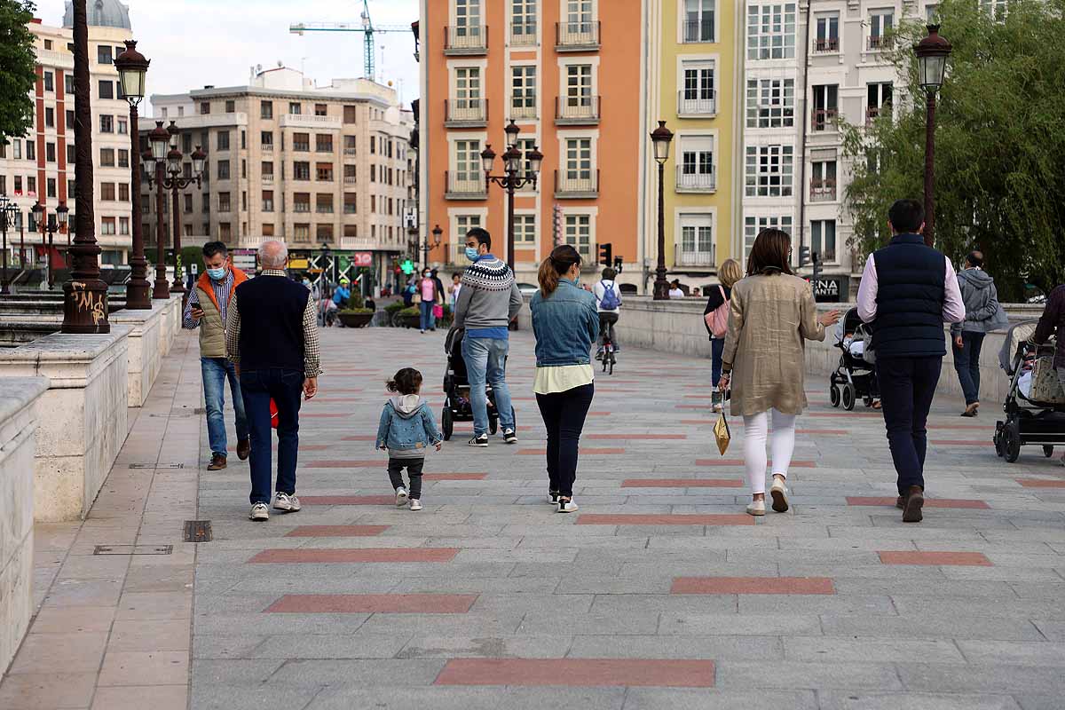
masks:
[[[236,411],[236,456],[244,461],[251,450],[248,422],[244,414],[241,382],[233,363],[226,359],[226,315],[229,299],[237,285],[248,280],[241,269],[229,262],[229,252],[222,242],[203,245],[206,271],[189,294],[183,326],[189,330],[199,328],[200,376],[203,379],[203,400],[207,408],[207,431],[211,444],[211,463],[208,470],[226,467],[226,380],[233,396]]]

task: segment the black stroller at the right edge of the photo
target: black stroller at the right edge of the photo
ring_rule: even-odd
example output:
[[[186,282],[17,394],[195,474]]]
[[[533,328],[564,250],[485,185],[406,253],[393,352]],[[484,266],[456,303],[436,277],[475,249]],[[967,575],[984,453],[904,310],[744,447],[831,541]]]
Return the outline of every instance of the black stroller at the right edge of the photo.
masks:
[[[1054,342],[1029,342],[1037,323],[1012,327],[999,351],[1010,390],[1002,404],[1005,422],[996,423],[994,441],[995,452],[1009,463],[1020,457],[1021,446],[1043,446],[1043,455],[1049,458],[1055,445],[1065,444],[1065,394],[1054,381]]]

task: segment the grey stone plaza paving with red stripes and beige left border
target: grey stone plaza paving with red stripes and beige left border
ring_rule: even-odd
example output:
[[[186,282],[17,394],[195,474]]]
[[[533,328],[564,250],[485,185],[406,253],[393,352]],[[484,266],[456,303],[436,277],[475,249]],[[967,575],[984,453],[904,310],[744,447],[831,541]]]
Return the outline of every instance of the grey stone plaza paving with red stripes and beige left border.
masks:
[[[399,510],[374,450],[383,382],[419,367],[439,417],[442,341],[324,332],[302,511],[256,524],[247,463],[206,470],[197,345],[179,336],[88,519],[37,527],[43,606],[0,707],[1065,707],[1065,468],[996,458],[996,402],[963,419],[936,401],[925,518],[903,524],[882,417],[832,409],[812,379],[792,509],[755,519],[740,423],[724,457],[710,433],[709,363],[626,350],[595,383],[580,511],[562,515],[521,332],[520,443],[473,449],[457,425],[425,509]],[[182,542],[194,519],[213,541]]]

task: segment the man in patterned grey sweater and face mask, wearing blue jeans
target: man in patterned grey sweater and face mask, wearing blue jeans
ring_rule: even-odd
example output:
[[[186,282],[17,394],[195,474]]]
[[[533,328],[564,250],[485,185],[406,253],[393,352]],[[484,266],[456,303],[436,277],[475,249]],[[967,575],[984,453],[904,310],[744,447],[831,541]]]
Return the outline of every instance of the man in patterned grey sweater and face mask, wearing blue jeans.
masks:
[[[486,384],[495,393],[499,429],[508,444],[518,443],[514,412],[506,382],[508,326],[522,308],[522,293],[514,273],[491,253],[492,236],[475,227],[466,232],[466,259],[473,262],[462,275],[462,288],[455,303],[455,327],[464,328],[462,359],[470,379],[473,439],[470,446],[488,446],[488,397]]]

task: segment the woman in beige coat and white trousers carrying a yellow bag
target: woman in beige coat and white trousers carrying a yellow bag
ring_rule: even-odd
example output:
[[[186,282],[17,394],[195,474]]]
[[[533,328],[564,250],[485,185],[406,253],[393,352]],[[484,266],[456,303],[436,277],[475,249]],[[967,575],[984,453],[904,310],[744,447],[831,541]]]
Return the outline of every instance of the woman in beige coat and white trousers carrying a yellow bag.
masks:
[[[743,457],[751,515],[766,514],[766,441],[772,451],[773,510],[788,509],[784,482],[796,444],[796,416],[806,407],[804,340],[823,341],[839,311],[818,317],[809,284],[792,275],[791,237],[777,229],[758,234],[747,278],[733,287],[719,386],[732,387],[732,413],[743,417]],[[769,436],[772,412],[773,433]]]

